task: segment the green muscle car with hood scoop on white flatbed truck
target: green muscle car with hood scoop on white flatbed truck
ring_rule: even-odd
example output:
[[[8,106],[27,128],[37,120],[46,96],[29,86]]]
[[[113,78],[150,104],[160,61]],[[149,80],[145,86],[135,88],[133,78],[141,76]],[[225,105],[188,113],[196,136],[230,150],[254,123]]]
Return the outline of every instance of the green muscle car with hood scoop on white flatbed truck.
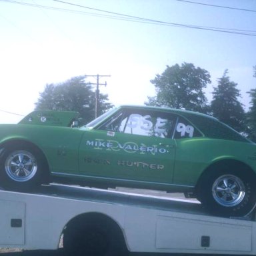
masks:
[[[213,117],[121,106],[83,127],[77,113],[34,111],[0,125],[0,185],[29,189],[55,179],[95,187],[191,193],[219,215],[256,202],[256,145]]]

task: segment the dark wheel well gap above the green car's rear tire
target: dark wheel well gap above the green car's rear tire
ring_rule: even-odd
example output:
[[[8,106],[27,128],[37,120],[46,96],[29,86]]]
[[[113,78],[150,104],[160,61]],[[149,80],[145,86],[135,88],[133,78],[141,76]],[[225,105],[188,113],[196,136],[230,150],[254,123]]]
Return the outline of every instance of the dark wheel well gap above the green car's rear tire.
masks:
[[[222,169],[223,167],[226,167],[227,169],[230,169],[230,170],[243,169],[243,175],[247,175],[247,176],[251,177],[251,179],[254,179],[254,182],[256,182],[256,174],[253,172],[251,167],[249,167],[245,163],[243,163],[241,161],[237,161],[237,160],[232,160],[232,159],[221,160],[216,163],[213,163],[212,165],[207,167],[207,169],[205,169],[205,171],[203,171],[203,173],[201,174],[201,176],[199,177],[199,179],[197,181],[197,185],[195,187],[195,193],[196,194],[198,193],[198,189],[199,189],[201,183],[205,180],[205,178],[211,171],[216,171],[218,169]]]

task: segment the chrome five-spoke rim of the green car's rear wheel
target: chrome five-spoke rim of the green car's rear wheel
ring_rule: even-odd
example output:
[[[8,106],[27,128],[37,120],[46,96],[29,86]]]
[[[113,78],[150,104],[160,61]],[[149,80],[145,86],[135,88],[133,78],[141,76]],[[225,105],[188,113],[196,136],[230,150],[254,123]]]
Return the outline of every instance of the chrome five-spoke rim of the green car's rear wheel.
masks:
[[[212,193],[219,205],[234,207],[245,198],[245,184],[235,175],[222,175],[213,183]]]

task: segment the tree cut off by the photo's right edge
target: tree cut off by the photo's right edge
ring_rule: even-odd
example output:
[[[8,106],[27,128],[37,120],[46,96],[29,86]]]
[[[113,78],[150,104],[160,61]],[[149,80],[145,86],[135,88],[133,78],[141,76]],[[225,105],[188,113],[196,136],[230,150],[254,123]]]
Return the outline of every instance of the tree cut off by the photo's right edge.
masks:
[[[253,67],[253,77],[256,77],[256,66]],[[251,97],[251,107],[247,113],[248,137],[256,141],[256,89],[251,89],[248,93]]]

